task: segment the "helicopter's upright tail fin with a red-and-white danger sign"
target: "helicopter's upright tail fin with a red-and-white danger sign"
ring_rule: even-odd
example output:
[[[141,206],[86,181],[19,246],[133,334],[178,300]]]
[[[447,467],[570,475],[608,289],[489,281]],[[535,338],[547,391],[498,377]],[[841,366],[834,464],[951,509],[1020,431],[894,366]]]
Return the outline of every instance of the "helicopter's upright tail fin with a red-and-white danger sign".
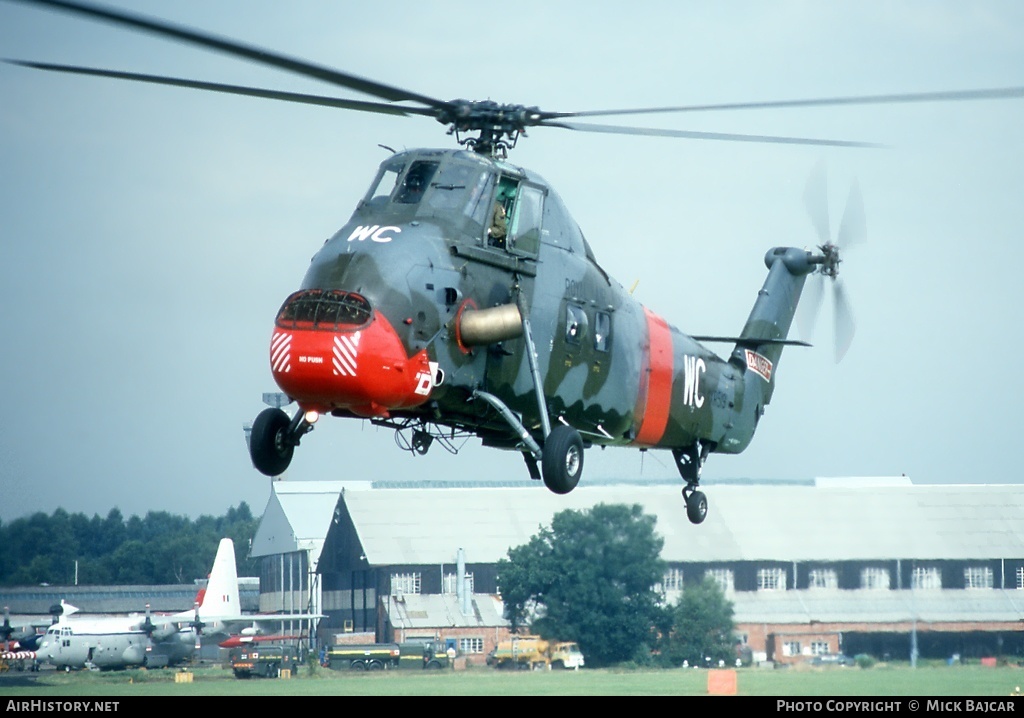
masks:
[[[786,337],[804,282],[820,264],[820,258],[795,247],[775,247],[765,254],[765,264],[768,277],[730,360],[745,369],[746,389],[760,392],[760,407],[771,400],[775,390],[775,370],[782,347],[798,343]]]

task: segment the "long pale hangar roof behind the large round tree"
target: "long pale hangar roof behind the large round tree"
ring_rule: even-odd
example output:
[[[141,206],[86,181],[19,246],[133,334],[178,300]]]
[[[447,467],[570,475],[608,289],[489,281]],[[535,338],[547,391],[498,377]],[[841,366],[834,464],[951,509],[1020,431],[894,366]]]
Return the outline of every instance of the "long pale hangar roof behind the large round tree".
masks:
[[[489,563],[563,509],[640,504],[656,517],[670,561],[984,559],[1024,556],[1024,485],[866,481],[703,488],[693,525],[679,485],[580,485],[558,496],[523,488],[371,489],[343,500],[371,564],[444,563],[459,548]],[[332,508],[334,504],[330,501]],[[255,552],[255,546],[254,546]]]

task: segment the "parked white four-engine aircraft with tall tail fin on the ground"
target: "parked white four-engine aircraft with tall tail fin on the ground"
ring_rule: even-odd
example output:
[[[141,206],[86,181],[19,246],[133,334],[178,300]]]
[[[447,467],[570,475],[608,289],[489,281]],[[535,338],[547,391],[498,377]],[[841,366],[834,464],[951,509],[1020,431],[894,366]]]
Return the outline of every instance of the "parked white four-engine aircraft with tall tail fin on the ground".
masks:
[[[170,616],[144,615],[85,618],[61,601],[65,610],[40,639],[36,660],[58,668],[122,669],[174,666],[189,661],[201,637],[215,641],[233,634],[258,632],[261,624],[309,622],[309,614],[243,615],[234,544],[221,539],[206,590],[194,610]],[[307,624],[306,624],[307,626]]]

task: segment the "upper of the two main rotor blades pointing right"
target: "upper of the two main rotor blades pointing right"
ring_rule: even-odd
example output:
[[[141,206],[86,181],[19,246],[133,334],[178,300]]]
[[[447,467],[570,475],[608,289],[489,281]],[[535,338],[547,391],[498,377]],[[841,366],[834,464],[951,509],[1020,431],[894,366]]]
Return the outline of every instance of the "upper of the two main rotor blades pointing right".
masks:
[[[944,90],[938,92],[903,92],[898,94],[855,95],[850,97],[815,97],[757,102],[725,102],[721,104],[684,104],[670,108],[639,108],[633,110],[589,110],[571,113],[546,113],[546,117],[607,117],[611,115],[649,115],[654,113],[717,112],[730,110],[774,110],[782,108],[823,108],[850,104],[895,104],[910,102],[974,101],[980,99],[1011,99],[1024,97],[1024,87],[994,87],[978,90]]]

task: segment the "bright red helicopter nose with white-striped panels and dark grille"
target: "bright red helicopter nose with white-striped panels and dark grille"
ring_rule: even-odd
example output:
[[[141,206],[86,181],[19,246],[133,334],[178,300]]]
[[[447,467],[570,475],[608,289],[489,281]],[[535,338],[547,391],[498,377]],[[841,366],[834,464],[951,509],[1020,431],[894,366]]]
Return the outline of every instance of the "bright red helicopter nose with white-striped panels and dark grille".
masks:
[[[270,341],[282,391],[304,411],[364,417],[423,404],[434,386],[426,349],[406,354],[391,323],[358,294],[304,290],[285,300]]]

